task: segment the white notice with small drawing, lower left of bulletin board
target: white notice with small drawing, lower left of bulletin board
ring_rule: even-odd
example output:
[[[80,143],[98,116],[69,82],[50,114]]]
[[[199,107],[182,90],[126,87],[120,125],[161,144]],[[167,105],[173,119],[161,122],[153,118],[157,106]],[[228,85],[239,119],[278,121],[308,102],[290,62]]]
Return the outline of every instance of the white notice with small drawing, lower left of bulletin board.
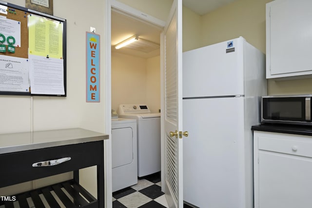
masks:
[[[0,55],[0,91],[29,92],[27,59]]]

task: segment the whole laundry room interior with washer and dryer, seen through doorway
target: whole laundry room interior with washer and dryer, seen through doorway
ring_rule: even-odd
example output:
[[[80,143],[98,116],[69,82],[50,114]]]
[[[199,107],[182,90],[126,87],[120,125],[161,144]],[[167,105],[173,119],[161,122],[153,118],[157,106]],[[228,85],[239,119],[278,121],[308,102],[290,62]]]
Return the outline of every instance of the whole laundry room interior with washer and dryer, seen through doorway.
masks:
[[[160,191],[162,28],[116,8],[111,17],[113,201],[126,188],[164,198]],[[127,40],[135,41],[118,48]]]

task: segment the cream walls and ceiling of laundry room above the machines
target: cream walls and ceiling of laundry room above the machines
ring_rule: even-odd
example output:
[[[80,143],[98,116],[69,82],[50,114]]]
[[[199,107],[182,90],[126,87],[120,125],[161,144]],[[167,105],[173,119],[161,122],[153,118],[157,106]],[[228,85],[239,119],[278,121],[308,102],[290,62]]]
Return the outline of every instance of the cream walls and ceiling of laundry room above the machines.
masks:
[[[161,28],[112,10],[112,109],[119,104],[146,104],[160,109]],[[115,45],[133,36],[144,39],[133,46]]]

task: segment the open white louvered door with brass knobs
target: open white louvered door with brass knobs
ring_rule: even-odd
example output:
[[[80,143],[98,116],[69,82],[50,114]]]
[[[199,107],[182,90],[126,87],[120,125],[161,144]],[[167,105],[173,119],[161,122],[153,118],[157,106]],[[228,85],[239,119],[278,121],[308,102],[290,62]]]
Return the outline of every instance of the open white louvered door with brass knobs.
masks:
[[[179,138],[179,131],[182,132],[182,0],[174,0],[163,38],[165,193],[170,208],[183,208],[183,147]]]

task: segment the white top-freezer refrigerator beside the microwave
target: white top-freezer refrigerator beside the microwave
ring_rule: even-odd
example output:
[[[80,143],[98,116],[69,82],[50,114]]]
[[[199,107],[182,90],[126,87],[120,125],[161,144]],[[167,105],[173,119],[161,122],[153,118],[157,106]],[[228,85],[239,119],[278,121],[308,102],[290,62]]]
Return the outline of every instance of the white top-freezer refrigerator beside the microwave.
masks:
[[[242,37],[183,53],[184,201],[253,208],[253,134],[265,55]]]

